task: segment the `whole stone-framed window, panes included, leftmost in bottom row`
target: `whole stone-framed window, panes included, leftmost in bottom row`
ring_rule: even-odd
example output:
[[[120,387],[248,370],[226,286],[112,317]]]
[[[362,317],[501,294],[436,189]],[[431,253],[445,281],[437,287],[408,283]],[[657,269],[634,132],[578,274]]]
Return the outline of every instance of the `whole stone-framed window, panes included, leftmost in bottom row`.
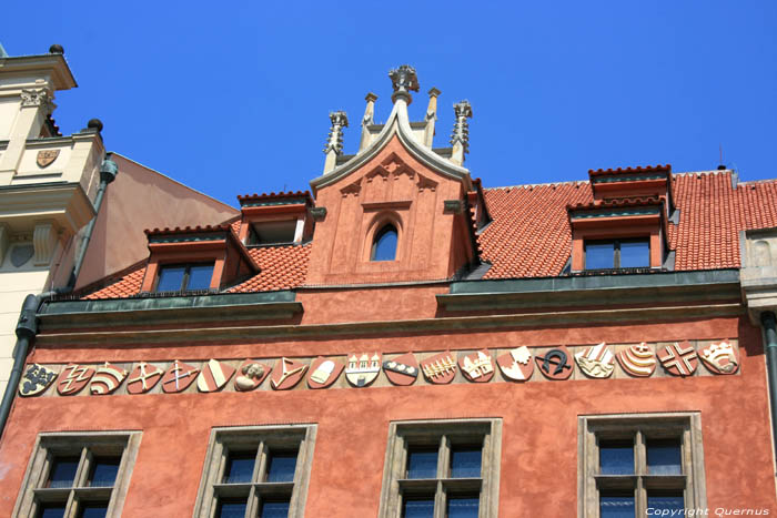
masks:
[[[38,436],[14,517],[119,517],[140,431]]]

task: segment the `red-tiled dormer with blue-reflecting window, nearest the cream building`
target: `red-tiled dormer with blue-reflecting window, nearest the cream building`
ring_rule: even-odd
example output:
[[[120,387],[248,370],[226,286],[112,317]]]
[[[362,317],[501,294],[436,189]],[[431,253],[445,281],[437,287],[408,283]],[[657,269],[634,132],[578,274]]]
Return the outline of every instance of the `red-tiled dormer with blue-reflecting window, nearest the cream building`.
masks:
[[[259,273],[231,225],[145,231],[149,262],[141,292],[222,291]]]

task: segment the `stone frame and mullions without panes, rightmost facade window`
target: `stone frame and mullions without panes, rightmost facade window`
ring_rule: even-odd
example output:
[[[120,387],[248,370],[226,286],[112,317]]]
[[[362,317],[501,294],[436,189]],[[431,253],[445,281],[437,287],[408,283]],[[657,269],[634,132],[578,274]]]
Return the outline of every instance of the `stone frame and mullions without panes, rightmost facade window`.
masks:
[[[603,492],[632,491],[636,516],[646,516],[648,491],[679,491],[686,509],[707,507],[702,418],[697,412],[578,416],[577,516],[599,518]],[[601,475],[599,443],[634,444],[634,474]],[[647,441],[679,439],[682,475],[650,475]]]

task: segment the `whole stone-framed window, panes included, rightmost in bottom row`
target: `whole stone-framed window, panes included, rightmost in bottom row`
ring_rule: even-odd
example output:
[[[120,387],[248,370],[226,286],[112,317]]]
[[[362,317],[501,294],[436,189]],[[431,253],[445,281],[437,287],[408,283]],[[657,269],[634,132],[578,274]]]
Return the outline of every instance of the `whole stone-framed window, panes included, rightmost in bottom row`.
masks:
[[[700,416],[581,416],[577,475],[583,518],[706,508]]]

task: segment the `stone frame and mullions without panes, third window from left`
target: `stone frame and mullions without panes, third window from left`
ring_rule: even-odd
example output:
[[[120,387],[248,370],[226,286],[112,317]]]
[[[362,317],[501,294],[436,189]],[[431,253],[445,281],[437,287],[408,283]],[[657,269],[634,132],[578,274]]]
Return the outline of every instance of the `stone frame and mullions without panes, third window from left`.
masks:
[[[482,444],[481,476],[451,478],[451,451],[455,445]],[[407,479],[408,451],[437,445],[435,478]],[[434,496],[434,517],[444,518],[447,497],[478,496],[478,518],[496,518],[500,509],[502,418],[392,421],[383,467],[380,518],[400,518],[403,495]]]

